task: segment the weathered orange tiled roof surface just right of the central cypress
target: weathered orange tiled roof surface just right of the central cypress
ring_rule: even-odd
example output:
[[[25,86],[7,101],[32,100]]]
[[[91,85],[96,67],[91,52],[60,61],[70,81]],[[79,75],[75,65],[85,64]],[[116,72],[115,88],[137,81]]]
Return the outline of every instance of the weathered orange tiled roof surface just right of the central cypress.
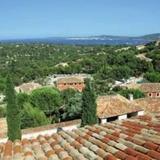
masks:
[[[99,118],[112,117],[141,110],[141,108],[121,95],[99,96],[97,115]]]

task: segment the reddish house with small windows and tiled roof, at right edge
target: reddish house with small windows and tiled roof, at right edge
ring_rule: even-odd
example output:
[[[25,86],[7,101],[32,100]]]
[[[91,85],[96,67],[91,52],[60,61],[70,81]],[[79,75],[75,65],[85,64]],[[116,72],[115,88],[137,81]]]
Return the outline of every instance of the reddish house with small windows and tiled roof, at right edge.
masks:
[[[139,89],[144,92],[147,97],[160,98],[160,83],[142,83]]]

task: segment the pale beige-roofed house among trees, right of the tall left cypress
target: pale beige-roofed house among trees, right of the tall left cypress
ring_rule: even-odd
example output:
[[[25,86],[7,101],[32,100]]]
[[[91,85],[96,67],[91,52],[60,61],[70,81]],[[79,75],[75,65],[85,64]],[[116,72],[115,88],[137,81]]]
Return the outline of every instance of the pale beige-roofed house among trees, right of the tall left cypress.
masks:
[[[41,88],[42,85],[35,82],[29,82],[29,83],[23,83],[20,86],[15,87],[15,90],[17,93],[23,92],[23,93],[30,93],[35,89]]]

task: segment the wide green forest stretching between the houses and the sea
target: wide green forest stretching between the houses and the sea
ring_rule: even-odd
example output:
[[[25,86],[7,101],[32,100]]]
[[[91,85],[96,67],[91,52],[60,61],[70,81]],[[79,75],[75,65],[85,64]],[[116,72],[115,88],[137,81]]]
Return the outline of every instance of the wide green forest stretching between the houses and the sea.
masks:
[[[152,61],[137,58],[141,53]],[[13,73],[15,85],[54,73],[89,73],[99,84],[146,73],[146,79],[155,82],[160,81],[160,47],[155,42],[140,51],[134,46],[0,44],[1,92],[8,71]]]

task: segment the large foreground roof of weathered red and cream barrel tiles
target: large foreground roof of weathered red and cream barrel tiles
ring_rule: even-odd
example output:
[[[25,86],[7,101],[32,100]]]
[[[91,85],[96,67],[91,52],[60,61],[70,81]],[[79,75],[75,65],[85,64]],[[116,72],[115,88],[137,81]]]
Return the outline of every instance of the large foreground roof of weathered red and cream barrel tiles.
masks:
[[[2,160],[160,160],[160,114],[0,144]]]

